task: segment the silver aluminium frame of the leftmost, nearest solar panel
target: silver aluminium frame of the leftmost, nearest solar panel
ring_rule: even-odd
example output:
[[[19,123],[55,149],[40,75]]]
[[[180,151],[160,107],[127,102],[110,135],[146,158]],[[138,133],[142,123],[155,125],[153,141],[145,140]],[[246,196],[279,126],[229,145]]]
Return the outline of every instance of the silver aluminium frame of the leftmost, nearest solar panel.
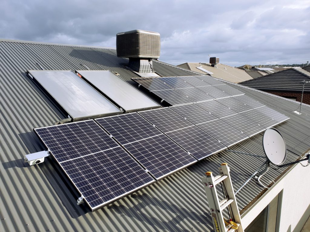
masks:
[[[95,122],[95,123],[102,129],[102,127],[101,127],[95,120],[93,120],[93,119],[84,120],[84,122],[87,122],[87,121],[93,121],[93,122]],[[73,124],[73,123],[77,123],[77,122],[69,122],[69,123],[66,123],[66,124]],[[47,126],[47,127],[55,127],[55,126],[57,126],[57,125],[52,125],[52,126]],[[34,131],[35,134],[38,136],[38,138],[41,140],[41,142],[44,144],[44,146],[48,149],[48,151],[49,151],[50,153],[52,153],[52,152],[49,150],[47,144],[42,140],[41,136],[39,136],[38,133],[37,133],[37,131],[35,131],[36,129],[47,128],[47,127],[33,128],[33,131]],[[104,130],[104,129],[103,129],[103,130]],[[104,131],[105,131],[105,130],[104,130]],[[106,132],[106,131],[105,131],[105,132]],[[118,143],[117,143],[117,144],[118,144]],[[118,148],[118,147],[122,148],[123,150],[125,150],[126,153],[128,153],[128,152],[126,151],[126,149],[124,149],[124,148],[123,148],[122,146],[120,146],[119,144],[118,144],[118,146],[115,147],[115,148]],[[104,150],[104,151],[106,151],[106,150]],[[103,151],[101,151],[101,152],[103,152]],[[131,156],[130,154],[128,154],[128,155]],[[79,189],[78,189],[78,187],[76,186],[76,184],[73,183],[72,178],[70,178],[69,175],[67,174],[67,172],[64,170],[64,167],[60,164],[59,161],[57,161],[57,159],[55,158],[55,156],[54,156],[53,154],[51,154],[51,156],[52,156],[52,157],[55,159],[55,161],[58,163],[58,165],[59,165],[60,168],[63,170],[64,174],[65,174],[65,175],[67,176],[67,178],[70,180],[70,182],[72,183],[72,185],[76,188],[76,190],[78,191],[78,193],[79,193],[80,195],[82,195],[82,193],[79,191]],[[132,157],[132,156],[131,156],[131,157]],[[134,157],[132,157],[132,158],[135,160]],[[69,160],[68,160],[68,161],[69,161]],[[135,161],[136,161],[136,160],[135,160]],[[66,161],[64,161],[64,162],[66,162]],[[136,161],[136,162],[137,162],[142,168],[144,168],[138,161]],[[148,172],[146,172],[146,173],[148,173]],[[149,173],[148,173],[148,174],[149,174]],[[149,174],[149,176],[150,176],[151,178],[153,178],[152,175]],[[96,207],[92,207],[92,206],[90,205],[90,203],[89,203],[86,199],[83,199],[83,200],[85,200],[86,204],[89,206],[89,208],[91,208],[91,212],[94,212],[94,211],[96,211],[96,210],[98,210],[98,209],[104,207],[104,206],[107,205],[107,204],[110,204],[110,203],[112,203],[112,202],[114,202],[114,201],[116,201],[116,200],[119,200],[119,199],[121,199],[121,198],[123,198],[123,197],[125,197],[125,196],[127,196],[127,195],[132,194],[132,193],[135,192],[135,191],[138,191],[138,190],[140,190],[140,189],[142,189],[142,188],[144,188],[144,187],[147,187],[148,185],[151,185],[151,184],[155,183],[156,180],[155,180],[154,178],[153,178],[153,180],[154,180],[154,181],[151,181],[151,182],[149,182],[149,183],[147,183],[147,184],[145,184],[145,185],[143,185],[143,186],[140,186],[140,187],[138,187],[138,188],[136,188],[136,189],[134,189],[134,190],[132,190],[132,191],[126,192],[125,194],[120,195],[120,196],[118,196],[117,198],[112,199],[112,200],[109,200],[109,201],[107,201],[107,202],[105,202],[105,203],[103,203],[103,204],[100,204],[100,205],[96,206]]]

